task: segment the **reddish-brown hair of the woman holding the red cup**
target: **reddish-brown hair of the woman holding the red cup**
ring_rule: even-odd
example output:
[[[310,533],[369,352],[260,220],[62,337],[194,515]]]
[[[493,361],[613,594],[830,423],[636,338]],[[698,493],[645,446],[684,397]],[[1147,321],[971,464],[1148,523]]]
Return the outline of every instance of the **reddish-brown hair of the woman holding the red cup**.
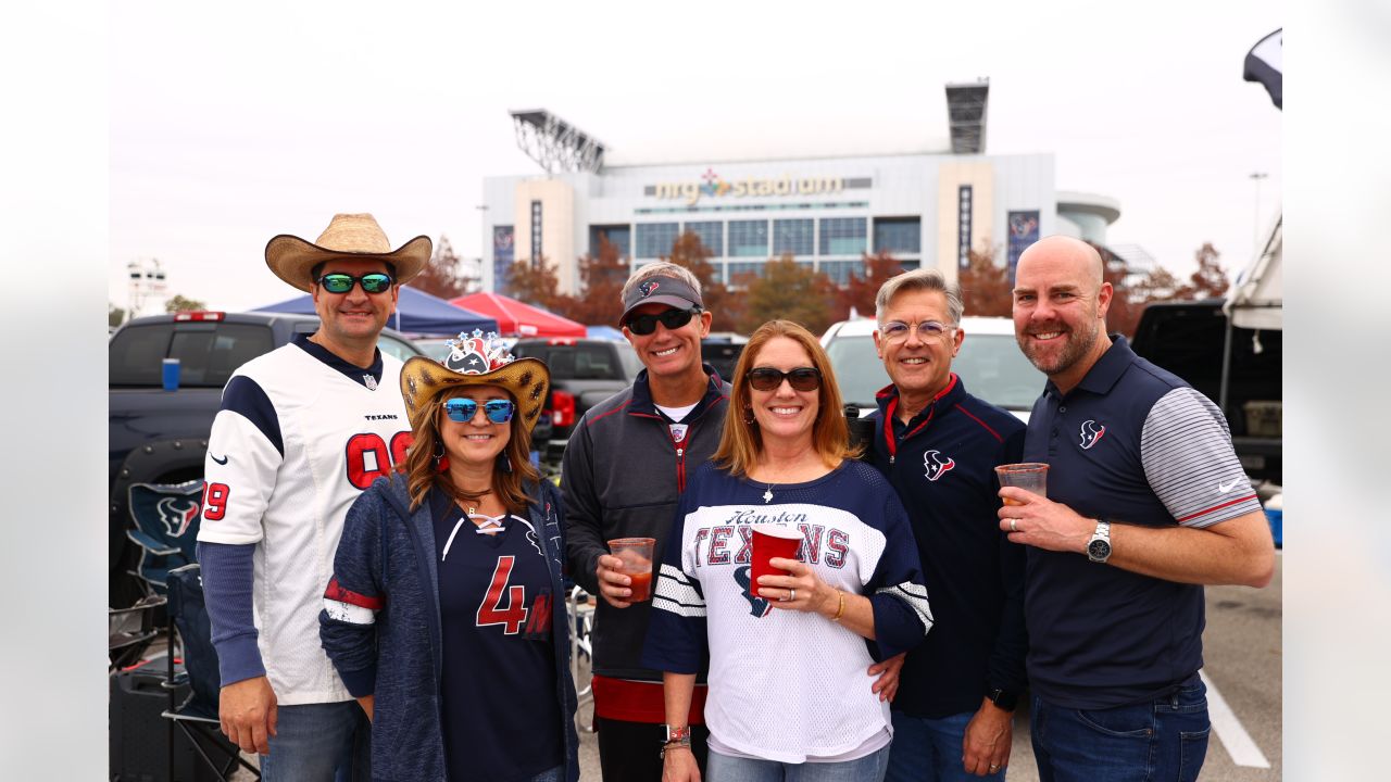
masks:
[[[758,424],[753,423],[751,395],[748,385],[748,370],[754,369],[758,353],[771,340],[786,337],[801,345],[811,356],[811,366],[821,372],[821,390],[817,398],[817,422],[812,424],[812,448],[829,466],[836,466],[842,459],[858,456],[858,448],[850,447],[850,427],[846,426],[844,410],[840,404],[840,387],[836,385],[836,374],[830,369],[830,359],[821,342],[812,337],[801,324],[790,320],[769,320],[753,333],[748,344],[739,355],[739,365],[734,366],[734,390],[729,397],[729,412],[725,415],[725,430],[719,437],[719,449],[711,459],[719,468],[727,469],[732,474],[746,476],[758,462],[758,455],[764,449],[762,434]]]

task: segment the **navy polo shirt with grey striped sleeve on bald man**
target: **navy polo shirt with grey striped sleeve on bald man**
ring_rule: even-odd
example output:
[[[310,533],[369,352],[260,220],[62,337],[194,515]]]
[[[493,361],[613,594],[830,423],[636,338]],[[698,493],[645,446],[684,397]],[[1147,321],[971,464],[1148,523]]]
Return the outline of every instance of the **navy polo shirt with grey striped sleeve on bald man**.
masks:
[[[1227,419],[1124,337],[1068,394],[1034,405],[1024,461],[1049,500],[1113,525],[1205,527],[1259,511]],[[1068,708],[1167,693],[1202,667],[1203,587],[1029,547],[1025,616],[1034,692]]]

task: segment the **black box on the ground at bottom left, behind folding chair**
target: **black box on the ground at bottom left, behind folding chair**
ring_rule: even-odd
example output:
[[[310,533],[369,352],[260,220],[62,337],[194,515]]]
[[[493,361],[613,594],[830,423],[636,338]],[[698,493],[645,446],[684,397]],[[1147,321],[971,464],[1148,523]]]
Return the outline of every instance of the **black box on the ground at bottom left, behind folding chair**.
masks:
[[[157,658],[129,671],[111,675],[110,742],[111,782],[216,782],[217,774],[193,750],[188,736],[171,721],[160,717],[170,707],[170,694],[163,682],[167,660]],[[184,667],[175,665],[175,673]],[[188,697],[186,683],[174,690],[174,703]],[[174,776],[170,778],[168,740],[174,737]],[[216,726],[214,726],[216,732]],[[230,747],[221,733],[216,740]],[[227,754],[199,739],[203,751],[216,763]]]

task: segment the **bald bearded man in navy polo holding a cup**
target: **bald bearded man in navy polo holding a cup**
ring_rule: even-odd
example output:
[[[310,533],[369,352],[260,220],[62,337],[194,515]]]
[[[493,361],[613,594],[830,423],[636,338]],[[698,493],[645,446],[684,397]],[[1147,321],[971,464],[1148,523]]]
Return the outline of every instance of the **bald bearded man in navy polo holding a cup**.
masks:
[[[1025,619],[1039,778],[1196,779],[1207,750],[1202,584],[1263,587],[1274,545],[1227,420],[1106,334],[1111,285],[1091,245],[1049,237],[1020,257],[1014,331],[1049,377],[1024,461],[1047,498],[1000,529],[1028,547]]]

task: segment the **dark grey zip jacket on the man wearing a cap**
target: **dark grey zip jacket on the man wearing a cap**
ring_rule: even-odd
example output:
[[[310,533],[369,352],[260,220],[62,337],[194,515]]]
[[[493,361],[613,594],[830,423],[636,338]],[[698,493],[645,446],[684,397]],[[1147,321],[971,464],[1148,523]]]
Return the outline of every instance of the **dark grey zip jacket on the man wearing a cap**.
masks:
[[[662,561],[676,502],[694,474],[715,454],[729,406],[730,385],[704,365],[709,383],[705,397],[683,419],[686,438],[672,440],[666,419],[652,404],[647,370],[630,388],[590,408],[565,447],[561,481],[565,490],[566,564],[584,591],[598,596],[594,568],[608,541],[619,537],[657,538],[654,557]],[[675,422],[682,423],[682,422]],[[661,671],[643,668],[643,641],[652,603],[613,608],[597,601],[594,616],[594,672],[601,676],[661,682]],[[705,680],[701,668],[700,682]]]

